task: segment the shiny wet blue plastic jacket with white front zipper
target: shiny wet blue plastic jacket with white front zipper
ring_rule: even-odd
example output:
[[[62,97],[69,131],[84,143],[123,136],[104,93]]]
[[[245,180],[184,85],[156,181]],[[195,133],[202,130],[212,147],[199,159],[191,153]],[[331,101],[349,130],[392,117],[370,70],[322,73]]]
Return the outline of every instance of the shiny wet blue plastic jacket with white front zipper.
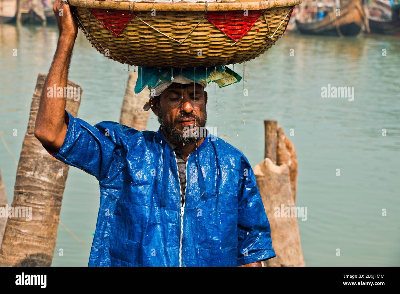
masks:
[[[254,173],[238,149],[211,136],[190,154],[181,216],[176,161],[160,130],[68,116],[53,156],[100,184],[89,266],[238,266],[275,256]]]

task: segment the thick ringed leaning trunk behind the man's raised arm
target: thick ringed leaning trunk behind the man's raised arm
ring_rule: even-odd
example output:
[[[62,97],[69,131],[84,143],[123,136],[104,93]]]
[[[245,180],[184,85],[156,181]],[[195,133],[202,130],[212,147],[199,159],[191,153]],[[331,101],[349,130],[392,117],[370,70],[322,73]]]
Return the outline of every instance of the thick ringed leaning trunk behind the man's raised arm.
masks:
[[[69,167],[48,154],[34,136],[45,79],[45,74],[38,75],[11,204],[15,210],[25,208],[25,212],[29,212],[31,209],[31,214],[29,217],[27,213],[25,217],[9,216],[0,248],[0,266],[50,266],[53,259]],[[79,90],[81,96],[82,90],[77,84],[68,81],[67,86]],[[80,99],[66,100],[66,110],[76,116]]]

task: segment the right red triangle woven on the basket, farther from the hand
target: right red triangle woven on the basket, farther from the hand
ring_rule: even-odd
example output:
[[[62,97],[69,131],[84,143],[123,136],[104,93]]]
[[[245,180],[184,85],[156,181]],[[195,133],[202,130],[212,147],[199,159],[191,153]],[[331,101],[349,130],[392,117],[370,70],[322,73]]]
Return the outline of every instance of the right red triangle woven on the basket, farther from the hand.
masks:
[[[254,26],[264,10],[248,10],[244,16],[243,10],[238,11],[208,11],[206,18],[221,32],[238,42]]]

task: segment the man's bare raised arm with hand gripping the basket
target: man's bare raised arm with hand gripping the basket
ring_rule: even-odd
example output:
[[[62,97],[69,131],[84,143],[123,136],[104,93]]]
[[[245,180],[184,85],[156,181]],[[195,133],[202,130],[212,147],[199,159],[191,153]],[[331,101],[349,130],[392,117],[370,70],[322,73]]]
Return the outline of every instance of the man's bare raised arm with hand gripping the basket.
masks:
[[[68,4],[61,2],[61,0],[56,0],[53,10],[60,35],[54,60],[44,83],[36,118],[35,137],[48,150],[58,152],[64,142],[68,127],[65,121],[66,98],[48,97],[47,89],[48,87],[53,88],[54,85],[63,89],[67,86],[68,68],[78,27]],[[55,96],[54,92],[52,96]]]

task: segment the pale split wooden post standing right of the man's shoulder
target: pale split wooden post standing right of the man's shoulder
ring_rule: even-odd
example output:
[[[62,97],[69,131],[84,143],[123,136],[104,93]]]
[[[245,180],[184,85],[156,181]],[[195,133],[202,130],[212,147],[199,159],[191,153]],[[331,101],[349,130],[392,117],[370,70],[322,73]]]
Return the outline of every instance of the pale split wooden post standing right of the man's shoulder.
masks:
[[[294,211],[297,158],[293,144],[274,120],[265,120],[266,158],[254,166],[258,190],[271,226],[272,246],[276,257],[267,266],[304,266],[298,218]],[[268,156],[271,156],[268,157]],[[278,165],[277,165],[278,164]],[[291,176],[294,173],[295,176]],[[304,212],[304,209],[303,209]],[[305,212],[307,212],[305,210]],[[306,216],[305,216],[306,217]]]

